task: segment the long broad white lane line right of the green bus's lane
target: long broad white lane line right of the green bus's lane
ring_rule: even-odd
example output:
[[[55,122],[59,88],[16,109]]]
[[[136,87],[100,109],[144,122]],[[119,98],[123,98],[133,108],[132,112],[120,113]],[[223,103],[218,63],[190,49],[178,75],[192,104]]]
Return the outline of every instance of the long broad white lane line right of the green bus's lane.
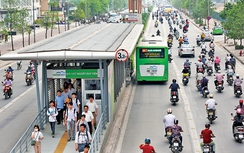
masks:
[[[164,31],[165,30],[165,26],[163,26],[164,28]],[[166,32],[164,33],[166,35]],[[177,77],[177,80],[181,80],[181,73],[179,71],[179,69],[177,68],[174,60],[171,62],[171,64],[173,65],[174,67],[174,70],[175,70],[175,73],[176,73],[176,77]],[[181,97],[182,97],[182,101],[184,103],[184,110],[185,110],[185,113],[186,113],[186,117],[187,117],[187,121],[188,121],[188,124],[189,124],[189,128],[188,128],[188,131],[190,133],[190,138],[192,140],[192,146],[193,146],[193,152],[194,153],[201,153],[201,148],[200,148],[200,140],[199,140],[199,136],[197,134],[197,129],[196,129],[196,125],[195,125],[195,122],[194,122],[194,119],[193,119],[193,115],[192,115],[192,112],[191,112],[191,107],[190,107],[190,103],[189,103],[189,100],[186,96],[186,92],[184,90],[184,88],[180,88],[180,94],[181,94]]]

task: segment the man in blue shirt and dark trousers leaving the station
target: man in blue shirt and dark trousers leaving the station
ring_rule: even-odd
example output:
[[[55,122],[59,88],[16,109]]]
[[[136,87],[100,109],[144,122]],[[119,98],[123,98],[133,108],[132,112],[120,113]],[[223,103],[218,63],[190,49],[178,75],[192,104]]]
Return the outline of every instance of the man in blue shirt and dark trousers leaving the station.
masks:
[[[61,94],[61,90],[58,90],[55,98],[55,107],[58,111],[57,124],[60,124],[63,121],[64,101],[65,97]]]

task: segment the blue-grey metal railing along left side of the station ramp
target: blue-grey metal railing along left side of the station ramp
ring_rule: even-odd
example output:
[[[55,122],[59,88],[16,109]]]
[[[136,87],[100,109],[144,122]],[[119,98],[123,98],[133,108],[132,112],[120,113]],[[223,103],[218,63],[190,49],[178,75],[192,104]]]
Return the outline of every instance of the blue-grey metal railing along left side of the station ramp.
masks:
[[[12,148],[10,153],[25,153],[28,151],[28,148],[31,145],[31,133],[33,132],[34,125],[42,124],[44,125],[46,123],[46,108],[44,108],[34,119],[34,121],[29,125],[25,133],[21,136],[21,138],[18,140],[18,142],[15,144],[15,146]]]

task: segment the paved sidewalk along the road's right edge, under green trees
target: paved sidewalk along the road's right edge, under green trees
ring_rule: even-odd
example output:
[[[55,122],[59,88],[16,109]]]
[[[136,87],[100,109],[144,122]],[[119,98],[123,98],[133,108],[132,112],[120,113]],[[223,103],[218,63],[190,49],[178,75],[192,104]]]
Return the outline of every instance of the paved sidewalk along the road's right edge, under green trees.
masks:
[[[198,24],[196,24],[194,22],[193,19],[189,18],[188,16],[186,16],[184,13],[182,13],[183,16],[185,18],[187,18],[194,26],[196,26],[197,28],[203,30],[203,26],[199,26]],[[212,28],[214,27],[214,22],[217,23],[217,25],[221,24],[220,21],[216,20],[216,19],[211,19],[209,20],[209,29],[210,31],[212,31]],[[221,48],[223,48],[224,50],[226,50],[227,52],[229,52],[230,54],[233,54],[234,57],[239,60],[243,65],[244,65],[244,54],[242,54],[242,56],[239,55],[239,52],[240,50],[241,51],[244,51],[244,49],[235,49],[235,46],[234,45],[231,45],[231,44],[234,44],[234,40],[233,39],[228,39],[227,41],[228,43],[224,43],[224,40],[221,40],[221,41],[215,41],[215,44],[220,46]],[[237,41],[239,43],[239,41]],[[243,41],[243,44],[244,44],[244,41]]]

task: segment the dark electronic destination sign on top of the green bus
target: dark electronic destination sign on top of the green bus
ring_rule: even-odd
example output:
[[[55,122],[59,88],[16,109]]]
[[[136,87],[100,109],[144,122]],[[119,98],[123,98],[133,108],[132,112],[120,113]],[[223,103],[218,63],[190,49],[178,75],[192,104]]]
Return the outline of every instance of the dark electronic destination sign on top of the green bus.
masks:
[[[164,58],[164,49],[140,49],[140,58]]]

